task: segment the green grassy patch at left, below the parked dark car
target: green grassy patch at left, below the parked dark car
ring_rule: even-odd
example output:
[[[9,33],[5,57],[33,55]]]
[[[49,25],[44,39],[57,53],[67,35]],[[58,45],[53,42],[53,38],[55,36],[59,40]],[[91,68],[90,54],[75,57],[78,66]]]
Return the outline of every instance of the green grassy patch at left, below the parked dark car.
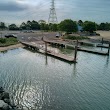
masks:
[[[0,38],[0,47],[6,47],[15,44],[18,44],[18,40],[16,38]]]

